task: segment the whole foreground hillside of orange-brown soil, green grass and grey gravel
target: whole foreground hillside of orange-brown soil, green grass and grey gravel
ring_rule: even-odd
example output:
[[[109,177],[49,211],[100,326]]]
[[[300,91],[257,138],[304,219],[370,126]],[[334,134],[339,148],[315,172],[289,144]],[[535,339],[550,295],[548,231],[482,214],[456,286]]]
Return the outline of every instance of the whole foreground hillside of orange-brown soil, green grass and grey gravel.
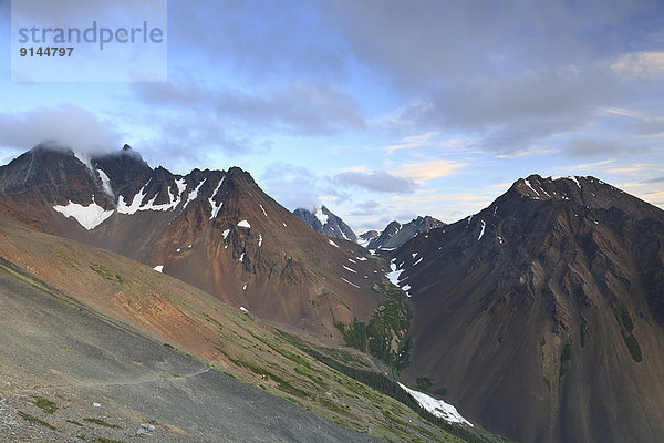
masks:
[[[0,305],[2,319],[9,319],[10,324],[3,332],[11,338],[0,343],[0,390],[9,399],[9,403],[3,400],[0,418],[20,406],[56,425],[50,432],[35,424],[37,430],[29,437],[17,440],[9,434],[4,439],[3,427],[2,441],[63,441],[63,435],[92,432],[97,437],[132,439],[133,433],[95,430],[84,422],[84,418],[97,415],[123,426],[124,422],[156,420],[154,436],[167,442],[266,441],[274,420],[286,422],[268,440],[336,441],[330,436],[329,425],[321,425],[303,411],[283,408],[258,390],[221,383],[222,375],[217,371],[369,434],[353,436],[334,431],[342,435],[341,441],[461,441],[396,400],[301,351],[288,336],[251,312],[231,308],[145,265],[31,230],[1,213],[0,240]],[[21,297],[30,300],[22,303]],[[34,318],[25,315],[32,306],[39,306]],[[39,319],[43,321],[35,321]],[[90,336],[79,336],[86,328],[93,329]],[[200,360],[173,359],[160,343]],[[328,352],[325,348],[309,346]],[[333,354],[343,357],[346,364],[372,370],[365,356],[339,350]],[[4,381],[12,381],[12,385],[7,388]],[[224,390],[229,385],[235,387],[232,392]],[[34,395],[45,396],[61,411],[54,415],[40,412],[31,404]],[[102,409],[93,408],[93,401],[100,401]],[[279,410],[261,411],[269,404]],[[183,406],[191,409],[178,412]],[[76,412],[79,409],[82,411]],[[197,411],[200,416],[196,416]],[[11,421],[28,420],[15,412],[9,416]],[[241,420],[242,414],[250,416],[222,429],[226,420]],[[301,424],[304,421],[309,424]],[[268,429],[246,429],[251,425]],[[310,427],[300,432],[300,425]],[[293,433],[290,437],[289,432]]]

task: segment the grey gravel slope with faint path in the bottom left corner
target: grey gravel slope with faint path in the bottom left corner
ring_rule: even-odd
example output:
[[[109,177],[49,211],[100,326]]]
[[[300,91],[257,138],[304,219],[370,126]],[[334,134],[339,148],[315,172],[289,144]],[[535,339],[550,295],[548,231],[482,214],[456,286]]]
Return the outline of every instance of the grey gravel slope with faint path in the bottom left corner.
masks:
[[[371,442],[0,272],[2,442]]]

